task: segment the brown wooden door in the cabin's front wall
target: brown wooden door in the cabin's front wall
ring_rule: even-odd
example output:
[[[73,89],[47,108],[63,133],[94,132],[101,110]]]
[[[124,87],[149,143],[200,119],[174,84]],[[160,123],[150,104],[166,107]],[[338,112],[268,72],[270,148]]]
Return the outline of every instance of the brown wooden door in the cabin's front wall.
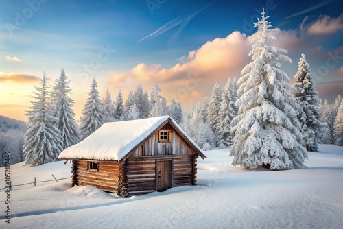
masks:
[[[156,160],[156,191],[172,187],[172,160]]]

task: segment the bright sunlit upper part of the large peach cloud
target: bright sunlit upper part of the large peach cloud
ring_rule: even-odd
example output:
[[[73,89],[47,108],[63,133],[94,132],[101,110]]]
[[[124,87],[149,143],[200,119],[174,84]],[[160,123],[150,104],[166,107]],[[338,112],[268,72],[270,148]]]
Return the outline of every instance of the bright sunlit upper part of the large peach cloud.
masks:
[[[145,82],[180,82],[188,75],[197,75],[204,80],[227,80],[230,76],[238,76],[241,69],[250,61],[248,53],[251,49],[251,38],[240,32],[233,32],[226,38],[215,38],[197,50],[182,56],[180,63],[169,69],[160,64],[137,64],[126,73],[110,72],[109,82],[124,83],[128,80]]]

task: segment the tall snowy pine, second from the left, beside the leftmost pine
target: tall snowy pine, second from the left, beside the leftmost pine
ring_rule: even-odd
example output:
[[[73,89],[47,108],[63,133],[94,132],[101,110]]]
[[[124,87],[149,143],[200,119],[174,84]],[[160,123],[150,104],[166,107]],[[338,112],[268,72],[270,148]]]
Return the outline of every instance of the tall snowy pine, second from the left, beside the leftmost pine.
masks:
[[[55,81],[53,88],[53,106],[54,117],[57,117],[56,127],[62,134],[62,149],[67,149],[71,145],[75,145],[80,141],[78,125],[75,122],[75,113],[73,112],[73,99],[69,97],[71,88],[70,80],[67,80],[64,69],[62,69],[60,77]]]

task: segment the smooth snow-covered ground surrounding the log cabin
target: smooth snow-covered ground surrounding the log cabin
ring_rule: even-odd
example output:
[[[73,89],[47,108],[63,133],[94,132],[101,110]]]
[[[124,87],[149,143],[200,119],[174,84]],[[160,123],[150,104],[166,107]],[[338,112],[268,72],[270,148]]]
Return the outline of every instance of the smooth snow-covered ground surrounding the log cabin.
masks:
[[[342,228],[343,147],[320,145],[308,169],[231,166],[228,150],[198,160],[198,186],[122,199],[69,180],[14,187],[10,224],[0,228]],[[0,168],[0,188],[5,168]],[[3,175],[2,175],[3,174]],[[70,176],[70,164],[12,166],[12,184]],[[5,192],[0,211],[5,215]]]

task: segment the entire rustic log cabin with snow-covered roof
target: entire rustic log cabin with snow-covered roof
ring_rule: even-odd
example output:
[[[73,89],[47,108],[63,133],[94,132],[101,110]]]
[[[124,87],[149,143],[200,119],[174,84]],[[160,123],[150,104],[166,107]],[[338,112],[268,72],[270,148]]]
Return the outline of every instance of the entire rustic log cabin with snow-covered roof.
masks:
[[[71,160],[72,186],[129,195],[196,185],[206,156],[169,116],[104,123],[58,158]]]

